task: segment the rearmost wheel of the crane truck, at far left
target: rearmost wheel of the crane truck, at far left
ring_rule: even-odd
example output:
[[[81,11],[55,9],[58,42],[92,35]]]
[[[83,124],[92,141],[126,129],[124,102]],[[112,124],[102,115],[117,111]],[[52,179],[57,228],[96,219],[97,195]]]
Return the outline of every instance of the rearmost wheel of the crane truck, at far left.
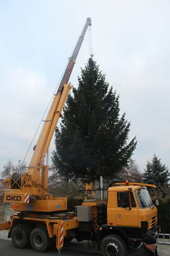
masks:
[[[30,236],[28,228],[25,225],[17,225],[12,229],[11,240],[15,247],[22,249],[29,244]]]

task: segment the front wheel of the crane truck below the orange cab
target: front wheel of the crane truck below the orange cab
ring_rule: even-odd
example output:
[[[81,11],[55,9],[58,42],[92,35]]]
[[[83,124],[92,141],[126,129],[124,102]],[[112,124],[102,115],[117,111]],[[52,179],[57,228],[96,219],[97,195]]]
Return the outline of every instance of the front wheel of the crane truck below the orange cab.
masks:
[[[120,236],[105,236],[100,245],[103,256],[125,256],[126,244]]]

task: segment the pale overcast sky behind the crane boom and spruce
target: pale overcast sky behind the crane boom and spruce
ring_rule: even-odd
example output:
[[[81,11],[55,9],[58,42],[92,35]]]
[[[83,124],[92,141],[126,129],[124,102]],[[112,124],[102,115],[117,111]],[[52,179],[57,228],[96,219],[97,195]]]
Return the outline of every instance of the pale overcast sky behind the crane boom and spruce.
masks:
[[[170,1],[0,0],[0,171],[24,159],[87,17],[95,59],[137,135],[132,158],[142,172],[153,153],[170,166]],[[88,58],[87,32],[75,87]]]

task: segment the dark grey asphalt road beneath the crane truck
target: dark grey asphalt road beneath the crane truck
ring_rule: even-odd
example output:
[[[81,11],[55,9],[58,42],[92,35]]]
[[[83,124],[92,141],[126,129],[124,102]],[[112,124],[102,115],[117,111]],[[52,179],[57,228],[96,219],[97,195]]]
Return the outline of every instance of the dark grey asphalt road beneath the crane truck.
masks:
[[[129,250],[126,256],[135,256],[135,250]],[[51,248],[47,252],[35,252],[33,248],[27,247],[24,249],[16,248],[11,240],[0,239],[0,255],[1,256],[57,256],[57,249]],[[87,241],[77,242],[75,239],[64,246],[61,250],[61,256],[101,256],[101,254],[93,252]]]

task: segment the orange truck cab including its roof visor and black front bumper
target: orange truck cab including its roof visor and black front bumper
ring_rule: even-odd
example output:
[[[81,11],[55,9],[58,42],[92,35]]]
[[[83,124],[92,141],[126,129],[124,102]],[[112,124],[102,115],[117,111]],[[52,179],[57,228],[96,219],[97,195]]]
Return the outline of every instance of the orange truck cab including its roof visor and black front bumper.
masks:
[[[147,187],[142,183],[115,183],[108,188],[107,227],[112,234],[122,237],[130,248],[137,248],[147,235],[157,236],[157,208],[152,203]],[[110,232],[109,232],[110,234]]]

